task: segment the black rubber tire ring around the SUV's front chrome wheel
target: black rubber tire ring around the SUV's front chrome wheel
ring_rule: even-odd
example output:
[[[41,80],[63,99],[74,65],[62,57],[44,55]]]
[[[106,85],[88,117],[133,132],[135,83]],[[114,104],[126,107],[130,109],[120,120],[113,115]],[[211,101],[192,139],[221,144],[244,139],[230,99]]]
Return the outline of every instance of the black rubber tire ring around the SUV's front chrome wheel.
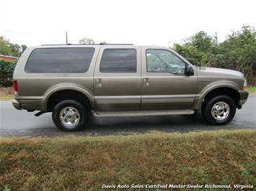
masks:
[[[226,118],[221,120],[214,118],[214,116],[212,115],[213,106],[219,102],[224,102],[229,106],[228,115],[226,116]],[[203,118],[208,122],[208,124],[214,126],[222,126],[228,124],[234,118],[236,110],[236,103],[232,98],[230,98],[228,95],[216,95],[215,97],[208,99],[206,103],[203,103],[201,113]]]

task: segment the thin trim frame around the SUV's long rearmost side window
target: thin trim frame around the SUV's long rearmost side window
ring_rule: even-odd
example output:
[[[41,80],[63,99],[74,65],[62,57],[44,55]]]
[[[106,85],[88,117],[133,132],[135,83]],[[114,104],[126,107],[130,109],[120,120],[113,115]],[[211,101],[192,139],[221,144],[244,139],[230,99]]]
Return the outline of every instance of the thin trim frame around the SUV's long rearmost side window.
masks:
[[[28,74],[72,74],[72,73],[47,73],[47,72],[40,72],[40,73],[35,73],[35,72],[28,72],[27,70],[26,70],[26,67],[27,67],[27,62],[28,62],[28,60],[30,60],[30,57],[31,57],[31,55],[32,55],[32,52],[34,52],[34,50],[39,50],[39,49],[71,49],[71,48],[84,48],[84,49],[88,49],[88,48],[90,48],[90,49],[92,49],[93,50],[93,52],[92,52],[92,59],[91,59],[91,61],[89,62],[89,67],[92,65],[92,60],[93,60],[93,57],[94,57],[94,53],[95,53],[95,48],[94,47],[40,47],[40,48],[35,48],[35,49],[33,49],[31,52],[30,52],[30,55],[29,55],[29,57],[27,57],[27,61],[26,61],[26,64],[25,64],[25,67],[24,67],[24,71],[25,71],[25,73],[28,73]],[[87,70],[85,70],[85,71],[83,71],[83,72],[81,72],[80,74],[82,74],[82,73],[87,73],[88,72],[88,70],[89,70],[89,67],[87,68]],[[76,72],[77,73],[77,72]],[[73,74],[74,74],[74,72],[73,72]]]

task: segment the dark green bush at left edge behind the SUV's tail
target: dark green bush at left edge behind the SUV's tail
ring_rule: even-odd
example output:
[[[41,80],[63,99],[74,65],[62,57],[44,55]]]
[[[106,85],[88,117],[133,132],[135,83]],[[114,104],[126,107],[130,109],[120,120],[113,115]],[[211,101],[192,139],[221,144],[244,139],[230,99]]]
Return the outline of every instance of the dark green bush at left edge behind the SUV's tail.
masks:
[[[16,62],[14,61],[0,59],[0,87],[12,85],[12,75],[14,73],[15,66]]]

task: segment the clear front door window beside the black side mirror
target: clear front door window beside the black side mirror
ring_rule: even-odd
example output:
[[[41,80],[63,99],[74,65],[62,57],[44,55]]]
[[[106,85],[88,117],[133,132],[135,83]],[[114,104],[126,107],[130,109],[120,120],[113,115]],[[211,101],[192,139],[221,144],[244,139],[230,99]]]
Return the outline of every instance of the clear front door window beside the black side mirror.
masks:
[[[185,75],[185,62],[168,50],[146,50],[148,73],[172,73]]]

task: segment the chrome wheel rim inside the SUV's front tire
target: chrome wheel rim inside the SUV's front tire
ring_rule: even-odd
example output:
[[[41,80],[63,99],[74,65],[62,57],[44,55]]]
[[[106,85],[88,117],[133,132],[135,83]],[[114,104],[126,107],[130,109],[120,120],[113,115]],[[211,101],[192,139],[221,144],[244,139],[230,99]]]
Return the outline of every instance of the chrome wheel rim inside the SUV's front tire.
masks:
[[[224,120],[227,116],[229,116],[229,113],[229,104],[224,101],[215,103],[211,108],[211,116],[217,120]]]

